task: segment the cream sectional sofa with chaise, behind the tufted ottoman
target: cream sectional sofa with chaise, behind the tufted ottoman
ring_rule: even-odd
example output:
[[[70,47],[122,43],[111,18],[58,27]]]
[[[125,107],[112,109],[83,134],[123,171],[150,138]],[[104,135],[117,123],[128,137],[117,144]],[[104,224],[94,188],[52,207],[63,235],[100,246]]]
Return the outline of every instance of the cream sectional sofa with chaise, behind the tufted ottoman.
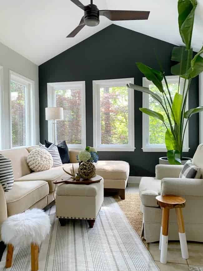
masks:
[[[5,192],[0,185],[0,225],[8,216],[21,213],[28,208],[45,208],[54,202],[56,185],[54,181],[61,180],[64,175],[63,167],[70,171],[72,163],[77,168],[76,156],[79,151],[70,150],[70,163],[41,172],[31,172],[27,165],[27,156],[32,149],[10,149],[0,151],[2,155],[12,161],[14,184],[10,191]],[[104,178],[104,188],[119,189],[125,198],[125,188],[129,176],[129,164],[124,161],[98,161],[96,173]],[[0,236],[1,240],[1,236]]]

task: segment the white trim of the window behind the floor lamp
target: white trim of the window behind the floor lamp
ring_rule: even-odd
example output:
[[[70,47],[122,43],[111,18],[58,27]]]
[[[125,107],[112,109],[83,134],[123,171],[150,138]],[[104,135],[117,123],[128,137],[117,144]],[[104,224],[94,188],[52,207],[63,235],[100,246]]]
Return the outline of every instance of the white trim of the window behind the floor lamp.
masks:
[[[81,90],[81,119],[82,119],[82,144],[67,144],[69,149],[82,150],[86,148],[86,100],[85,100],[85,81],[77,82],[57,82],[47,83],[47,102],[48,107],[56,106],[55,90],[66,89]],[[54,142],[53,122],[48,121],[48,140]],[[64,138],[65,140],[65,138]]]

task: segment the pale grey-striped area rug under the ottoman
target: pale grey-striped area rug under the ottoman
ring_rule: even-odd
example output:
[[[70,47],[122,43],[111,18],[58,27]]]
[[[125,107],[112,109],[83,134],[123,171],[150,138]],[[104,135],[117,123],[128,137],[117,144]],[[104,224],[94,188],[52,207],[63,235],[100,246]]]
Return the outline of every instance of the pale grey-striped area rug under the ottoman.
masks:
[[[159,270],[113,198],[104,198],[92,229],[86,220],[70,220],[61,227],[55,206],[47,212],[52,227],[40,247],[40,271]],[[4,268],[5,258],[6,251],[0,270],[31,270],[29,247],[15,248],[12,268]]]

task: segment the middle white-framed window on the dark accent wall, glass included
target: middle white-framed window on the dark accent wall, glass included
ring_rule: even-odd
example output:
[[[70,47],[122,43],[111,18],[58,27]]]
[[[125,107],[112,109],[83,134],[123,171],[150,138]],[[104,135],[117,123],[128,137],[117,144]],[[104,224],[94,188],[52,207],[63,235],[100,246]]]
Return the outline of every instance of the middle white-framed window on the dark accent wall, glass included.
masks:
[[[93,81],[93,138],[99,151],[134,151],[134,78]]]

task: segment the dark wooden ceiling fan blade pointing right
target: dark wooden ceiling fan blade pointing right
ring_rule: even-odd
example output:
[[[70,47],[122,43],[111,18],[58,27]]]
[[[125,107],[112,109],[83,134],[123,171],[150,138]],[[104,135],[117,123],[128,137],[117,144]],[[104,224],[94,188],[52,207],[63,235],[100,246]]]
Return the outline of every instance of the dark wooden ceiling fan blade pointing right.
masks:
[[[111,21],[147,20],[149,11],[132,10],[100,10],[99,15],[105,16]]]

